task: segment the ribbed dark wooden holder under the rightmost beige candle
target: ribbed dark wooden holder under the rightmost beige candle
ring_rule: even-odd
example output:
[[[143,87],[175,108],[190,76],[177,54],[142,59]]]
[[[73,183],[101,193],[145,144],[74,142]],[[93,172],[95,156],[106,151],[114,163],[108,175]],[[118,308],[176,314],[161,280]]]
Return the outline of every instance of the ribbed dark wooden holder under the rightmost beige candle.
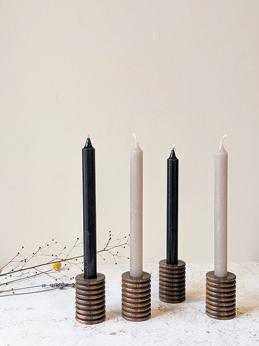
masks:
[[[217,320],[236,316],[236,275],[218,277],[214,271],[206,274],[206,314]]]

